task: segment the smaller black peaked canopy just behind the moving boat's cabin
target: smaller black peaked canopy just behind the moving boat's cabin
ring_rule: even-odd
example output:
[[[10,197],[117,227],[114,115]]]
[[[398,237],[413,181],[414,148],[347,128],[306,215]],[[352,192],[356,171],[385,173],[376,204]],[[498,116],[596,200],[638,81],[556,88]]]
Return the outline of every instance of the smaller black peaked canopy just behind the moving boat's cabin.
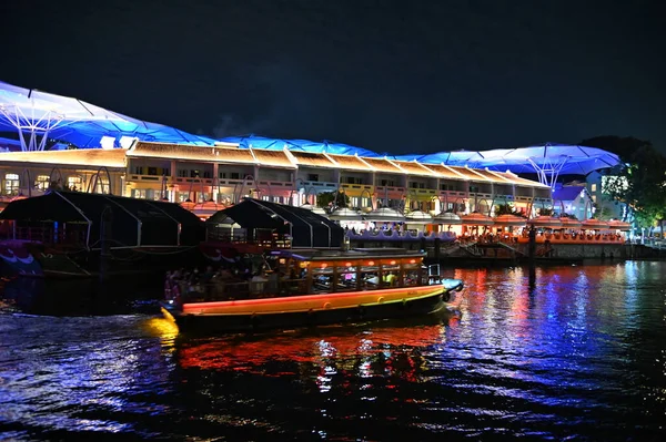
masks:
[[[241,203],[213,214],[208,223],[231,218],[246,229],[271,229],[291,234],[292,247],[340,248],[342,227],[312,210],[261,199],[244,198]]]

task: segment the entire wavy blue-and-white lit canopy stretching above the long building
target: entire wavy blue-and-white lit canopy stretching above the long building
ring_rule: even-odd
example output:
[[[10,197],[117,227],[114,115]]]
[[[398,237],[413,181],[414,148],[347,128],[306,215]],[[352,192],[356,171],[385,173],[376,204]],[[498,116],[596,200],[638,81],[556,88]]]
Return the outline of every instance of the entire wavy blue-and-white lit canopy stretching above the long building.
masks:
[[[558,143],[492,151],[455,151],[391,156],[326,140],[314,142],[248,135],[215,141],[162,124],[132,119],[74,97],[0,82],[0,132],[8,130],[18,131],[19,145],[22,151],[42,151],[50,138],[68,142],[78,147],[102,148],[130,147],[134,140],[198,146],[238,146],[241,150],[330,155],[327,160],[341,167],[359,169],[369,168],[370,162],[353,158],[354,156],[390,157],[390,160],[404,162],[416,160],[425,165],[468,166],[500,172],[511,171],[516,174],[536,173],[539,182],[551,187],[554,186],[558,175],[587,175],[589,172],[619,164],[617,155],[601,148]],[[173,147],[171,146],[171,148]],[[230,153],[228,152],[228,154]],[[135,152],[134,155],[140,155],[140,153]],[[275,165],[290,167],[283,157],[265,156],[278,163]],[[311,161],[314,160],[302,156],[297,157],[296,163]],[[373,166],[381,164],[381,162],[373,163]],[[390,165],[377,167],[382,172],[389,172],[391,168]]]

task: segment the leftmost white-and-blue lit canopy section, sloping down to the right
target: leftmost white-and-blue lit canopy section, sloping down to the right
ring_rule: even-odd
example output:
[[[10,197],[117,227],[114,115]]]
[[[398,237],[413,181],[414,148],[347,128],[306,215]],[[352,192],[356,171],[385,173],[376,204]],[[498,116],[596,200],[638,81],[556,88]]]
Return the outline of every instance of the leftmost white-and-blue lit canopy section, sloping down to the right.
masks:
[[[18,131],[22,151],[54,138],[78,147],[128,147],[132,140],[213,145],[214,140],[108,111],[84,101],[0,82],[0,131]]]

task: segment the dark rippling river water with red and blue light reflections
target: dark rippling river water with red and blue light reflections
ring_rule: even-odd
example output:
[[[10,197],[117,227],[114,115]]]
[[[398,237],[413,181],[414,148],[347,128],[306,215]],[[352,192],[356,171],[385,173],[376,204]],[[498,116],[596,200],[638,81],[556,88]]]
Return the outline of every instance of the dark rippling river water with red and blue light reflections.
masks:
[[[452,270],[460,313],[254,337],[0,313],[0,439],[662,440],[665,274]]]

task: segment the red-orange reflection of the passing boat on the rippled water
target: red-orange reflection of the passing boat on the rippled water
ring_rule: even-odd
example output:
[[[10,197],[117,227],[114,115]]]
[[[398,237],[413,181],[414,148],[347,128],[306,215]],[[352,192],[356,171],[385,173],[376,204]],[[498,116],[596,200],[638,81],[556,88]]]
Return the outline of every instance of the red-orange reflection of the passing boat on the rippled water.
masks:
[[[182,369],[235,371],[283,376],[304,369],[321,373],[352,371],[361,377],[413,377],[414,363],[397,354],[414,352],[446,340],[446,329],[455,327],[457,313],[392,320],[356,326],[332,326],[258,336],[232,336],[184,340],[178,346]],[[424,323],[424,321],[426,323]],[[430,322],[430,323],[428,323]],[[272,373],[271,364],[281,371]]]

